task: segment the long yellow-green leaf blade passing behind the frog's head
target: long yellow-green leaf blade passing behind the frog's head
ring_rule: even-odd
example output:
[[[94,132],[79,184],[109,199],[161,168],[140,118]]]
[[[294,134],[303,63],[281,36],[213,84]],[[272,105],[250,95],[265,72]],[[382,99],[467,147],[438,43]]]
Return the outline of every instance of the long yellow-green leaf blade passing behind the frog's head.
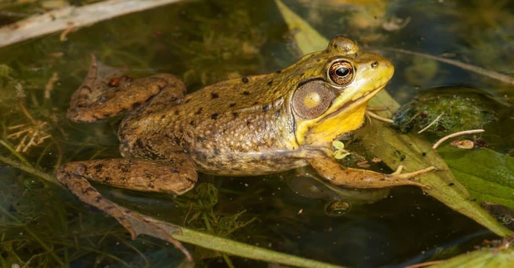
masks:
[[[303,54],[326,48],[327,39],[320,38],[319,33],[311,37],[310,35],[316,32],[315,29],[289,10],[280,0],[275,2],[289,28],[295,32],[293,36]],[[386,90],[380,91],[372,98],[370,106],[388,107],[389,110],[377,112],[382,117],[391,117],[390,111],[399,107],[398,103],[391,98]],[[358,135],[368,151],[393,169],[400,164],[407,166],[408,171],[426,168],[431,165],[436,166],[438,171],[419,178],[421,183],[432,187],[432,189],[426,190],[429,195],[489,228],[497,235],[509,236],[512,234],[509,229],[498,223],[482,207],[470,200],[466,188],[455,180],[445,161],[436,151],[431,149],[431,144],[423,137],[416,134],[400,135],[388,125],[377,121],[361,128]],[[398,158],[398,152],[405,155],[405,159]]]

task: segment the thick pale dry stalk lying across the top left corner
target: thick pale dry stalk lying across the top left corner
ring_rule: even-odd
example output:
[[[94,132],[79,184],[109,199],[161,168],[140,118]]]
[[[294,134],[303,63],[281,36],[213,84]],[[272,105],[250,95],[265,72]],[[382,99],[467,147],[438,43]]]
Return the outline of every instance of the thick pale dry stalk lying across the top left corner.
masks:
[[[82,7],[63,7],[0,28],[0,47],[179,1],[107,0]]]

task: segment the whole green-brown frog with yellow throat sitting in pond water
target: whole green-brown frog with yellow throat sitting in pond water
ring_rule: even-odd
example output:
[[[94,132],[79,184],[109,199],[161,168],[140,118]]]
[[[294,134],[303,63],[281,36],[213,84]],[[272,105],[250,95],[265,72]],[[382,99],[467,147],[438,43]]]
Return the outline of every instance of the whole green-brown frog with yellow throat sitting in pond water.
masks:
[[[66,117],[91,123],[124,114],[117,133],[121,157],[65,163],[56,177],[79,200],[118,220],[133,238],[161,236],[180,247],[158,224],[103,197],[89,181],[182,195],[194,187],[198,173],[255,176],[310,165],[342,187],[428,188],[414,179],[435,169],[402,173],[399,166],[383,174],[334,159],[332,142],[363,125],[368,101],[394,73],[391,61],[343,36],[282,70],[192,93],[172,74],[133,79],[91,58]]]

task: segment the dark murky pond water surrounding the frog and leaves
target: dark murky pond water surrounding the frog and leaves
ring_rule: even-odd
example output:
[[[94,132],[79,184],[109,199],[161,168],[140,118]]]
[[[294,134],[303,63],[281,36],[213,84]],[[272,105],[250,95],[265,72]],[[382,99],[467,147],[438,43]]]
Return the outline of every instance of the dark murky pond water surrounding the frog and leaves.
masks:
[[[294,63],[300,54],[276,4],[255,3],[186,1],[79,29],[69,33],[65,42],[56,33],[0,48],[0,123],[5,144],[0,153],[48,174],[69,161],[119,157],[116,129],[121,117],[93,124],[71,123],[65,118],[70,95],[82,83],[91,53],[107,65],[126,66],[132,76],[173,73],[185,81],[189,91]],[[396,73],[387,90],[399,103],[442,86],[473,88],[497,100],[494,109],[499,119],[487,125],[482,138],[489,148],[512,153],[514,139],[509,129],[514,120],[502,116],[510,111],[512,86],[387,50],[444,55],[511,74],[514,5],[508,1],[284,3],[323,35],[348,36],[391,59]],[[57,82],[50,83],[50,90],[52,75],[57,75]],[[46,97],[45,91],[49,93]],[[24,129],[30,130],[12,135]],[[30,146],[32,137],[42,142]],[[17,157],[9,146],[20,146]],[[326,199],[296,193],[290,187],[294,179],[293,171],[244,178],[200,174],[200,183],[217,189],[214,207],[197,206],[195,190],[186,197],[173,197],[95,186],[109,199],[139,212],[218,234],[228,231],[210,226],[212,223],[243,212],[237,220],[244,226],[230,226],[233,232],[228,237],[339,265],[402,266],[433,256],[451,257],[472,250],[483,239],[494,238],[484,227],[417,187],[394,187],[385,199],[356,204],[350,212],[334,217],[325,211]],[[0,184],[3,266],[26,263],[31,256],[29,266],[41,267],[59,263],[71,267],[173,267],[183,259],[166,242],[149,237],[132,241],[114,219],[85,207],[66,190],[37,176],[0,164]],[[199,208],[191,209],[191,204]],[[226,265],[219,255],[192,245],[188,248],[202,265]],[[230,259],[234,266],[266,266],[249,259]]]

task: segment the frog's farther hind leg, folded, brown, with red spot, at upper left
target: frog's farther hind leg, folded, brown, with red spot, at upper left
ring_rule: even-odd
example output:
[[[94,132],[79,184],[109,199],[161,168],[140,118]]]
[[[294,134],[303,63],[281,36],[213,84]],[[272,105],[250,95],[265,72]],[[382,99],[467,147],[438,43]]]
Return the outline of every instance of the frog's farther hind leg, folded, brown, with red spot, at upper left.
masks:
[[[94,122],[135,109],[156,94],[176,100],[186,93],[186,86],[171,74],[161,73],[136,80],[123,74],[123,69],[105,66],[91,55],[89,72],[71,96],[66,113],[68,119]]]

